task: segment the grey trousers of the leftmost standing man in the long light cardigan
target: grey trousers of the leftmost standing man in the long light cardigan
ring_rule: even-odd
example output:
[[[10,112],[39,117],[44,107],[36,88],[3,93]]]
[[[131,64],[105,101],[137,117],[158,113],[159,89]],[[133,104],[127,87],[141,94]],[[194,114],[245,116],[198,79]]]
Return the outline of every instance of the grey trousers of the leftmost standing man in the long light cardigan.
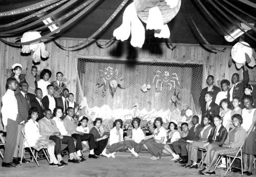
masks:
[[[18,122],[12,119],[7,120],[7,132],[5,139],[5,153],[3,162],[11,163],[17,142]]]

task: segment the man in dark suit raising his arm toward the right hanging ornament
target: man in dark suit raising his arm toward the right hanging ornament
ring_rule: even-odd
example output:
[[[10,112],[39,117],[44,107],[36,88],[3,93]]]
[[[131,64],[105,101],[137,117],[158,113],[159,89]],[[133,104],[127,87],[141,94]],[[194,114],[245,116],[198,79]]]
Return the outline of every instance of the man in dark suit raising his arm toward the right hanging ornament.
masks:
[[[239,82],[239,74],[234,73],[231,78],[232,82],[232,87],[228,90],[227,92],[227,99],[230,101],[233,100],[233,97],[239,97],[240,99],[244,96],[244,86],[248,84],[249,82],[249,74],[246,66],[243,66],[243,71],[244,71],[244,79],[242,82]],[[243,103],[242,103],[243,104]]]

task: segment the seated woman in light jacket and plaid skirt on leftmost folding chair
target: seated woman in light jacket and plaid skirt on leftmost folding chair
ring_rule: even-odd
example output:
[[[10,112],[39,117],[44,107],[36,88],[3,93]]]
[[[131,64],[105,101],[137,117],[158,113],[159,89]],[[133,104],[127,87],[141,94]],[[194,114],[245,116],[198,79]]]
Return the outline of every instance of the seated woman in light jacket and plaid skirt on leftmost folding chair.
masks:
[[[25,124],[25,135],[29,146],[33,147],[35,150],[47,149],[50,156],[50,166],[51,167],[64,167],[65,165],[58,162],[54,155],[54,141],[49,140],[47,137],[42,137],[39,134],[39,125],[36,122],[38,118],[38,109],[36,107],[31,107],[29,109],[28,122]]]

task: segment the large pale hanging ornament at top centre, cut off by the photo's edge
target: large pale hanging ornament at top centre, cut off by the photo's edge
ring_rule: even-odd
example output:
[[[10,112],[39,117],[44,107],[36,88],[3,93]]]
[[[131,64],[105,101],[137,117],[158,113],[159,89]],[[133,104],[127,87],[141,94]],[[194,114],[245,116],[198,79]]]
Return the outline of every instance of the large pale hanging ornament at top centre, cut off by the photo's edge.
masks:
[[[167,23],[180,10],[181,0],[134,0],[123,13],[123,22],[114,30],[116,39],[127,40],[132,33],[131,45],[141,48],[145,40],[145,29],[140,19],[146,24],[146,29],[155,30],[155,37],[169,38]]]

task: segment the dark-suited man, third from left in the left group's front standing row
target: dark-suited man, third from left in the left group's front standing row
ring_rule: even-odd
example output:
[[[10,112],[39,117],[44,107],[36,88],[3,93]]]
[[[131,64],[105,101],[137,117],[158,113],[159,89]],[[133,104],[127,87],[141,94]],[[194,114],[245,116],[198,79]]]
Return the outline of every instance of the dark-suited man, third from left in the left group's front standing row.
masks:
[[[40,88],[35,89],[35,99],[31,101],[31,107],[36,107],[39,114],[36,121],[39,121],[44,117],[44,106],[42,106],[42,90]]]

